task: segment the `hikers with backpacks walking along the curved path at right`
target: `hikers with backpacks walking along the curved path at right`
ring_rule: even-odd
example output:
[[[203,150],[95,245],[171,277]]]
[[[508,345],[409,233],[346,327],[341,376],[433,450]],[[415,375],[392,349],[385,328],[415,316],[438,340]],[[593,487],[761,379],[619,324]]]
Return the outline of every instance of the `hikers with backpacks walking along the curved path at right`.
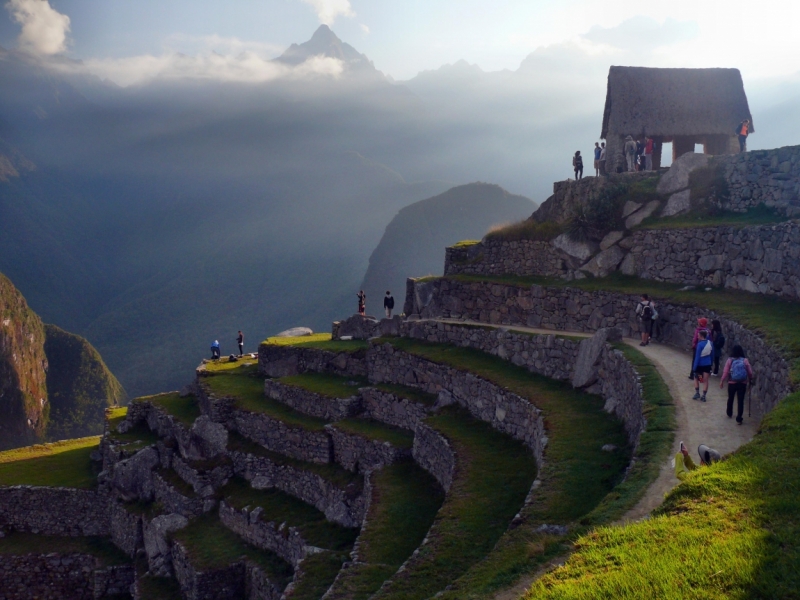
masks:
[[[636,316],[639,318],[639,331],[642,336],[639,345],[647,346],[650,344],[653,327],[658,319],[656,305],[647,294],[642,294],[636,305]],[[689,379],[694,383],[692,400],[707,401],[711,377],[720,377],[720,359],[726,341],[722,324],[718,319],[712,319],[710,322],[706,317],[697,319],[697,326],[692,336],[692,370],[689,373]],[[728,418],[733,418],[733,403],[736,400],[736,422],[739,425],[743,422],[745,394],[748,385],[752,385],[754,379],[753,367],[747,360],[744,348],[735,344],[723,366],[719,387],[724,389],[725,384],[728,384],[726,414]]]

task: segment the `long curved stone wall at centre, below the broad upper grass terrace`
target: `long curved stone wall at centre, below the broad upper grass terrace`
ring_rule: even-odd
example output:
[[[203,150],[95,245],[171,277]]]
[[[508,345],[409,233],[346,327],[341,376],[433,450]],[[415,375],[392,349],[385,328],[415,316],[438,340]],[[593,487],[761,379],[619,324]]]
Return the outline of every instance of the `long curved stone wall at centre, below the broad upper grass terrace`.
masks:
[[[367,364],[370,379],[376,383],[399,383],[439,394],[440,398],[451,397],[476,418],[524,442],[542,464],[544,423],[541,411],[526,399],[471,373],[396,350],[391,344],[372,345]]]

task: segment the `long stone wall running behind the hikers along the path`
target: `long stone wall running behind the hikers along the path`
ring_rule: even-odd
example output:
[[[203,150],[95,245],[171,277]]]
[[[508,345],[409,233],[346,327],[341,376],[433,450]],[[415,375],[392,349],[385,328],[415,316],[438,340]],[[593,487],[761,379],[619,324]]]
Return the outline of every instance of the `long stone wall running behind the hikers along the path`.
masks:
[[[413,280],[410,286],[414,285]],[[502,325],[522,325],[554,331],[594,332],[604,327],[618,327],[623,335],[636,337],[639,322],[634,312],[639,298],[633,294],[587,291],[569,287],[539,285],[516,286],[492,282],[460,282],[437,279],[425,283],[430,288],[427,306],[415,306],[431,316],[482,321]],[[412,292],[413,293],[413,292]],[[719,319],[727,338],[726,348],[740,344],[748,354],[756,374],[753,389],[753,410],[758,414],[771,410],[790,393],[790,365],[777,349],[755,333],[714,310],[659,302],[659,320],[654,339],[687,349],[686,373],[691,355],[688,348],[698,316]]]

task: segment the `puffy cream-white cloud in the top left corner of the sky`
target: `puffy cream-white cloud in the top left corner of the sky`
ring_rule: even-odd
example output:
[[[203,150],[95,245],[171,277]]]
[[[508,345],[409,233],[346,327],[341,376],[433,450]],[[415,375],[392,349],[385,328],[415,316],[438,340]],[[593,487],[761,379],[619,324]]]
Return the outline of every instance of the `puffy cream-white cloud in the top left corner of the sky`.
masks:
[[[6,10],[20,25],[20,48],[34,54],[58,54],[67,49],[69,17],[48,0],[10,0]]]

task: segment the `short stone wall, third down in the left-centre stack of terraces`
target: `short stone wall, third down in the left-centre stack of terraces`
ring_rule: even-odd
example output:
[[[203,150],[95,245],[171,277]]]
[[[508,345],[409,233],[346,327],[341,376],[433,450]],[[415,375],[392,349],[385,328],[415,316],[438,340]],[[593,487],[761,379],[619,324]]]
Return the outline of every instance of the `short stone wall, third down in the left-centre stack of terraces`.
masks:
[[[257,489],[277,488],[325,513],[325,518],[344,527],[358,527],[364,518],[367,498],[361,489],[343,490],[324,477],[277,465],[264,456],[231,452],[233,468]]]

